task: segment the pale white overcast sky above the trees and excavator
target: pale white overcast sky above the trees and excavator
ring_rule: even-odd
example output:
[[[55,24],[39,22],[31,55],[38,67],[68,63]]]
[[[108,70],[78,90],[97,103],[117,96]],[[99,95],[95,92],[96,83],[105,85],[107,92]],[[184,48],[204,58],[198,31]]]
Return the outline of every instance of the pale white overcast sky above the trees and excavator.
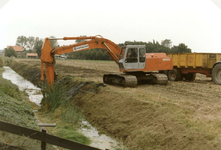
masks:
[[[213,2],[0,0],[0,49],[15,45],[21,35],[42,39],[102,35],[116,44],[170,39],[172,45],[185,43],[193,52],[221,53],[221,7]]]

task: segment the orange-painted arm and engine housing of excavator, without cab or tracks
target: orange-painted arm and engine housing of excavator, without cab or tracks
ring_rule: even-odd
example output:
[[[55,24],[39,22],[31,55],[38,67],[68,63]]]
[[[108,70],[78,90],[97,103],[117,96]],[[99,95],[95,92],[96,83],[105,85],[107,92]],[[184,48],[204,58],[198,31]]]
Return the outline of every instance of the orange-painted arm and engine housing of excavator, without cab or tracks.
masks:
[[[80,42],[77,44],[72,44],[69,46],[57,47],[52,49],[50,44],[50,39],[46,38],[44,45],[42,47],[41,53],[41,80],[44,80],[44,64],[48,84],[54,82],[54,55],[70,53],[76,51],[83,51],[94,48],[105,49],[107,53],[112,57],[112,59],[118,63],[121,48],[114,42],[105,39],[101,36],[90,36],[90,37],[64,37],[62,40],[77,40],[77,39],[87,39],[88,41]],[[59,40],[59,39],[56,39]],[[156,71],[156,70],[172,70],[173,60],[166,56],[165,53],[151,53],[146,54],[146,64],[143,69],[128,69],[120,70],[123,72],[127,71]]]

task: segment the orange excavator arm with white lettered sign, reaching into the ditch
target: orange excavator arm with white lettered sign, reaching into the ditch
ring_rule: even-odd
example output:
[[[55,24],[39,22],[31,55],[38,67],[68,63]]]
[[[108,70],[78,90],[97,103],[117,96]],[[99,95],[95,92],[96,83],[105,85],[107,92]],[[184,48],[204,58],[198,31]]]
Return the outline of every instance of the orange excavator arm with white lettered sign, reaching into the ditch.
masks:
[[[77,44],[68,46],[52,48],[50,40],[86,40]],[[90,36],[90,37],[64,37],[49,39],[46,38],[41,52],[41,80],[44,81],[44,66],[46,71],[46,77],[48,85],[54,82],[54,55],[71,53],[83,50],[89,50],[94,48],[105,49],[112,59],[118,63],[121,48],[114,42],[103,38],[102,36]]]

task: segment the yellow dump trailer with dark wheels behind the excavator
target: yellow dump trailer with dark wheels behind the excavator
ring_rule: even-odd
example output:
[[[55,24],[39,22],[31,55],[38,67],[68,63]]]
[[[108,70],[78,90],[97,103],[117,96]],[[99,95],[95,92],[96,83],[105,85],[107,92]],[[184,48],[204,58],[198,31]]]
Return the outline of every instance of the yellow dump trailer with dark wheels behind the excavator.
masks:
[[[168,54],[168,57],[173,58],[173,70],[165,71],[170,81],[193,81],[196,73],[201,73],[221,84],[221,53]]]

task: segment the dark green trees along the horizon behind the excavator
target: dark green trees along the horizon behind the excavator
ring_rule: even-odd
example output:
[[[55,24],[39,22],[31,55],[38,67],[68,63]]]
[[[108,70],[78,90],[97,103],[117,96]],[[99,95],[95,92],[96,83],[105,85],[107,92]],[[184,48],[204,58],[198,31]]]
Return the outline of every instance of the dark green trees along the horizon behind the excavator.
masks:
[[[50,36],[49,38],[55,38]],[[83,40],[76,40],[76,43],[82,42]],[[58,42],[56,40],[50,40],[52,48],[58,47]],[[23,56],[26,53],[37,53],[38,57],[41,57],[41,48],[43,46],[43,39],[39,37],[26,37],[18,36],[16,40],[17,46],[23,47]],[[153,40],[153,42],[142,42],[142,41],[126,41],[124,43],[118,44],[120,47],[124,45],[145,45],[147,53],[191,53],[191,49],[188,48],[184,43],[180,43],[178,46],[172,46],[172,41],[170,39],[162,40],[161,43]],[[6,56],[15,56],[16,53],[13,49],[5,49]],[[104,49],[91,49],[87,51],[78,51],[74,53],[65,54],[69,59],[84,59],[84,60],[112,60]]]

